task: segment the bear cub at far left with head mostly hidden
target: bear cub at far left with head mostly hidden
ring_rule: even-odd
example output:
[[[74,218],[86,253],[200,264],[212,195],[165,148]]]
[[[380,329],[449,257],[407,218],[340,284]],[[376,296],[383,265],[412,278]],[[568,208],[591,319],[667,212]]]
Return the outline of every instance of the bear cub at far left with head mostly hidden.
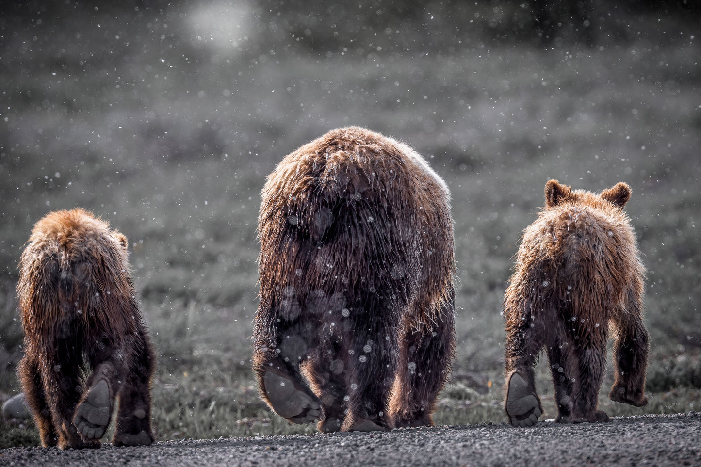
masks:
[[[37,222],[22,253],[17,291],[25,356],[18,375],[45,447],[100,447],[115,398],[114,445],[154,441],[154,351],[127,247],[109,224],[74,209]]]

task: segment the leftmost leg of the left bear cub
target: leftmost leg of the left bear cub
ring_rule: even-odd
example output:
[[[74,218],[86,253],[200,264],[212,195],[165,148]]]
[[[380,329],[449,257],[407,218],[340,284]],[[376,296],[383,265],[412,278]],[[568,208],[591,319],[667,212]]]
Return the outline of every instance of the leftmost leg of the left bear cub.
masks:
[[[36,360],[25,354],[18,365],[18,376],[25,392],[27,405],[34,416],[34,423],[39,429],[39,438],[43,447],[55,446],[58,443],[58,434],[51,419],[51,411],[46,402],[46,393],[43,390],[41,372]]]

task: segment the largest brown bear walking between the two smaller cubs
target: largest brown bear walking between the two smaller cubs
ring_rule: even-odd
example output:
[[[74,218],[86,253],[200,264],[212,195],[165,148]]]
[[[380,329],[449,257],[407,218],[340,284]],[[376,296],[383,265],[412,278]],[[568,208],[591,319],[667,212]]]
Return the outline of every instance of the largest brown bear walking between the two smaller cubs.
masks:
[[[253,370],[281,417],[323,432],[433,424],[455,346],[449,201],[416,151],[358,127],[268,176]]]

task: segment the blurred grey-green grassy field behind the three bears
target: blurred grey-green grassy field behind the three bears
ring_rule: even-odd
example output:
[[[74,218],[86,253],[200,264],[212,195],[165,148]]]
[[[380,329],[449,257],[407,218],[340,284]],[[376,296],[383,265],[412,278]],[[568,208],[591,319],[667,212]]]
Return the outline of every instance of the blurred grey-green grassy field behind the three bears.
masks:
[[[259,192],[332,128],[411,145],[453,195],[458,359],[438,424],[505,421],[501,301],[550,178],[632,186],[650,405],[701,407],[701,9],[686,0],[3,1],[0,402],[21,391],[15,285],[46,212],[130,239],[158,349],[158,439],[311,432],[250,374]],[[545,359],[543,359],[545,360]],[[611,359],[609,358],[609,361]],[[538,388],[554,418],[544,363]],[[0,447],[38,442],[0,425]]]

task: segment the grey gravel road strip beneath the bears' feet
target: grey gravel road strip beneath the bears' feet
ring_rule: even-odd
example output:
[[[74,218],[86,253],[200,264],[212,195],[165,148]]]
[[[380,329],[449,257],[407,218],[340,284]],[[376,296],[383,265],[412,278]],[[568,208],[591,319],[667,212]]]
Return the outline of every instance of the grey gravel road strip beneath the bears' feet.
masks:
[[[0,450],[0,466],[701,466],[701,414],[532,428],[434,426],[390,432],[156,442],[149,447]]]

